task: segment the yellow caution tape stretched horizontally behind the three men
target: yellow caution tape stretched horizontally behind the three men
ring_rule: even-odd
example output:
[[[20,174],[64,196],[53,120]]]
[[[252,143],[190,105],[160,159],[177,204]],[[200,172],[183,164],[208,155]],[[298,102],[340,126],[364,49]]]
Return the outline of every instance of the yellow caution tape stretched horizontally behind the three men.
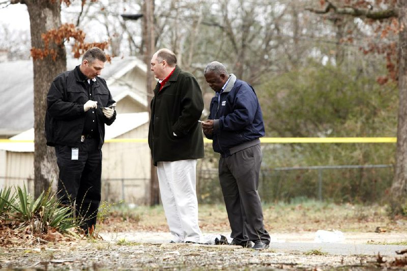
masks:
[[[147,143],[147,139],[108,139],[105,142]],[[212,140],[203,139],[204,143]],[[260,138],[261,143],[396,143],[397,138]],[[0,139],[0,143],[34,143],[33,140]]]

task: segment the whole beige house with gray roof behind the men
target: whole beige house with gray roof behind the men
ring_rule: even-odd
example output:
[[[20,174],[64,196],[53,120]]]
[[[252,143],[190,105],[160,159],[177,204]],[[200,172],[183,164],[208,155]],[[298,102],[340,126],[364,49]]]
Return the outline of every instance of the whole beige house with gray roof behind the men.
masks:
[[[67,61],[68,69],[80,64]],[[151,158],[147,144],[149,97],[147,66],[135,57],[113,58],[101,77],[117,101],[117,119],[106,126],[103,146],[103,200],[148,202]],[[0,189],[27,185],[34,178],[34,83],[31,60],[0,63],[0,138],[17,143],[0,143]],[[129,139],[145,139],[131,142]],[[23,141],[23,142],[21,142]],[[32,190],[31,190],[32,191]]]

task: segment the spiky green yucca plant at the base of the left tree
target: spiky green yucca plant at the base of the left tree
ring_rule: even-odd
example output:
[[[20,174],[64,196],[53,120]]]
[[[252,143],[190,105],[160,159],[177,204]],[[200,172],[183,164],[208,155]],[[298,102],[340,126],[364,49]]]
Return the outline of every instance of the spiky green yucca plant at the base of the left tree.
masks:
[[[61,206],[51,189],[34,199],[27,193],[25,186],[17,187],[14,197],[8,197],[9,191],[2,197],[5,206],[6,220],[11,220],[16,228],[31,229],[32,233],[46,233],[49,228],[64,232],[78,226],[77,220],[73,218],[71,206]],[[7,207],[6,207],[7,206]]]

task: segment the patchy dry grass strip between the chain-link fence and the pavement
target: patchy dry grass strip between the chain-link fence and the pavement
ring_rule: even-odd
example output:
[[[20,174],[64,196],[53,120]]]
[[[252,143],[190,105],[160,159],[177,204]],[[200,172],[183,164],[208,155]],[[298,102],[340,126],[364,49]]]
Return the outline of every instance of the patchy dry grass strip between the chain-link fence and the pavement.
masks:
[[[302,232],[340,230],[342,232],[374,232],[378,227],[388,231],[404,231],[407,220],[392,221],[386,206],[333,204],[305,201],[296,204],[267,204],[263,206],[265,227],[269,232]],[[162,205],[128,208],[122,204],[112,206],[102,223],[103,231],[156,231],[166,232],[168,226]],[[223,204],[199,205],[199,226],[205,232],[230,230]]]

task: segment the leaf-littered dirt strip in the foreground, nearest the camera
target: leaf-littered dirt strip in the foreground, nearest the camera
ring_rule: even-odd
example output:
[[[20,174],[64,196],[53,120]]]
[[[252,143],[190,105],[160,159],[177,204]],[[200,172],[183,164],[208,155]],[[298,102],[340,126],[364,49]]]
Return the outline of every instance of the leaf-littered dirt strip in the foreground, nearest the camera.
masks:
[[[317,253],[317,252],[315,252]],[[2,269],[137,270],[137,269],[371,269],[382,268],[374,256],[306,255],[262,252],[235,246],[170,245],[105,241],[67,243],[34,249],[9,248],[0,253]]]

